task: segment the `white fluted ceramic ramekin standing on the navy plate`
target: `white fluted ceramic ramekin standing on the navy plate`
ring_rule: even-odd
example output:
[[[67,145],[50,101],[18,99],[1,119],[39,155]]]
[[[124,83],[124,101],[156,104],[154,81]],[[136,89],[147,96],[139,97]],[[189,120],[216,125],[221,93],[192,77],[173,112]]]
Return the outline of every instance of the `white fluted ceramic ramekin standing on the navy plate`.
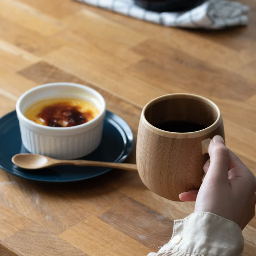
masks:
[[[50,127],[29,120],[24,111],[33,103],[51,98],[77,98],[91,102],[100,114],[91,121],[71,127]],[[24,147],[33,154],[74,159],[90,154],[101,141],[106,103],[99,92],[81,84],[51,83],[36,86],[16,104]]]

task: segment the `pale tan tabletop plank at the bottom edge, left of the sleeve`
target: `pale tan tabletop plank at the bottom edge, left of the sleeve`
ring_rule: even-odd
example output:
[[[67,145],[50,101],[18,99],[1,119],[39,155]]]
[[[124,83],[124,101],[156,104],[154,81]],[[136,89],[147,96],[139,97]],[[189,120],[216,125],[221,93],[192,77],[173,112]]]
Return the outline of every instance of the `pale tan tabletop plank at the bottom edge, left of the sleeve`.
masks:
[[[149,249],[91,215],[59,235],[88,255],[147,255]],[[83,237],[83,239],[80,239]]]

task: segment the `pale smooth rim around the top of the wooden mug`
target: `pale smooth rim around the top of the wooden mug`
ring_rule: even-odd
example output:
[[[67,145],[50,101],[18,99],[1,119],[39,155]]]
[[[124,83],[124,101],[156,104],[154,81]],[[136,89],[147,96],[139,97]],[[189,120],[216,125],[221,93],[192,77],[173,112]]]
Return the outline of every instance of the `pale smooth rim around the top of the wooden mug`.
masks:
[[[168,132],[161,130],[154,125],[150,124],[148,120],[145,117],[145,111],[156,104],[157,102],[163,101],[163,100],[168,100],[168,99],[195,99],[195,100],[201,100],[207,103],[208,105],[212,106],[218,113],[218,116],[216,120],[214,121],[213,124],[207,126],[203,130],[199,130],[196,132]],[[168,138],[175,138],[175,139],[186,139],[186,138],[196,138],[196,137],[201,137],[204,136],[212,131],[214,131],[221,123],[222,117],[220,113],[219,107],[212,101],[209,100],[203,96],[196,95],[196,94],[191,94],[191,93],[171,93],[171,94],[166,94],[159,96],[153,100],[150,100],[142,109],[141,112],[141,118],[140,118],[142,124],[148,128],[153,133],[156,133],[160,136],[168,137]]]

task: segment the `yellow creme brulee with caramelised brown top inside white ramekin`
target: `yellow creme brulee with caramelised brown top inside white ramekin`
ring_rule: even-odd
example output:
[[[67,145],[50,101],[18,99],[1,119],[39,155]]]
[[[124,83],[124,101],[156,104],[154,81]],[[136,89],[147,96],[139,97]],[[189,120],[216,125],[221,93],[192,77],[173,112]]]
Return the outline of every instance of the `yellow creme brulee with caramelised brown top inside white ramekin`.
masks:
[[[41,100],[24,113],[31,121],[52,127],[84,124],[98,115],[99,111],[92,103],[69,98]]]

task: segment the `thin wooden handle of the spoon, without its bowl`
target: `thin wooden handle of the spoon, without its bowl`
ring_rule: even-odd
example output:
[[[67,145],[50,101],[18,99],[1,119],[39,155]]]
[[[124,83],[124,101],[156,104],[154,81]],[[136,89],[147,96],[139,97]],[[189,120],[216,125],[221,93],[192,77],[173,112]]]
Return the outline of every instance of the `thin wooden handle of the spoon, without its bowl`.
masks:
[[[100,161],[89,161],[89,160],[61,160],[56,161],[53,165],[71,164],[78,166],[98,166],[98,167],[109,167],[115,169],[122,169],[127,171],[138,171],[136,164],[126,164],[126,163],[111,163],[111,162],[100,162]]]

